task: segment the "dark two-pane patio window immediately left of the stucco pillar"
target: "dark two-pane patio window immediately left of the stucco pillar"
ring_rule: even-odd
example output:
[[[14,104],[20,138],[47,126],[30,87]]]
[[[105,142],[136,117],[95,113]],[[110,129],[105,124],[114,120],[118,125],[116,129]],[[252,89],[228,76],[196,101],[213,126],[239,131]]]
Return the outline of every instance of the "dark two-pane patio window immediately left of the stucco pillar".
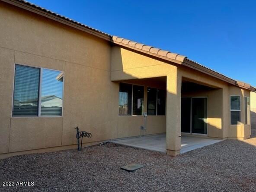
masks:
[[[165,115],[166,91],[156,88],[147,88],[147,114]]]

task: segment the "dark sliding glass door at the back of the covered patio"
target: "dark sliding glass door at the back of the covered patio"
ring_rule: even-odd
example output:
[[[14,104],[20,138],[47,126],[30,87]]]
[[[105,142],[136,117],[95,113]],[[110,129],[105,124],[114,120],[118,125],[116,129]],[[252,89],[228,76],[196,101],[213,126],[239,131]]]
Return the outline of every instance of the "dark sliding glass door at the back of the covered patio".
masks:
[[[207,98],[181,99],[181,132],[207,135]]]

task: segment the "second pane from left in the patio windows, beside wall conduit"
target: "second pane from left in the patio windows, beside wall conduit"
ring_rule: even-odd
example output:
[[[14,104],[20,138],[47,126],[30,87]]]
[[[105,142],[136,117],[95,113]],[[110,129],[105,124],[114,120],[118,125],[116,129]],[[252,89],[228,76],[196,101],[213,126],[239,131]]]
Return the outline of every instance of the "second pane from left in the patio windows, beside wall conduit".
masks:
[[[144,112],[144,87],[133,85],[133,115],[142,115]]]

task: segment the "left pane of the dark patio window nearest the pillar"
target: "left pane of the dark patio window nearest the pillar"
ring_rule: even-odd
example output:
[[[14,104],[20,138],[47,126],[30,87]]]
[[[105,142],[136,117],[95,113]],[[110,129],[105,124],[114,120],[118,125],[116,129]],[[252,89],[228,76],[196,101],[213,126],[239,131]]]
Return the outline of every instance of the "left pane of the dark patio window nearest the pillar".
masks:
[[[157,89],[147,88],[147,114],[157,114]]]

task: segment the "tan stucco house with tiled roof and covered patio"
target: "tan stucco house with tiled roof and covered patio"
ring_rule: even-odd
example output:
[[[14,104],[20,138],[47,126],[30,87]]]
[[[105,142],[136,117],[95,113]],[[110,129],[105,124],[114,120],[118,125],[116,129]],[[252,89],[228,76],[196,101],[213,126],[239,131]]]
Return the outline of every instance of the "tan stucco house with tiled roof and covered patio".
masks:
[[[256,89],[186,56],[22,0],[0,0],[0,29],[0,158],[76,148],[75,126],[88,145],[137,136],[145,113],[172,156],[181,135],[250,137]]]

